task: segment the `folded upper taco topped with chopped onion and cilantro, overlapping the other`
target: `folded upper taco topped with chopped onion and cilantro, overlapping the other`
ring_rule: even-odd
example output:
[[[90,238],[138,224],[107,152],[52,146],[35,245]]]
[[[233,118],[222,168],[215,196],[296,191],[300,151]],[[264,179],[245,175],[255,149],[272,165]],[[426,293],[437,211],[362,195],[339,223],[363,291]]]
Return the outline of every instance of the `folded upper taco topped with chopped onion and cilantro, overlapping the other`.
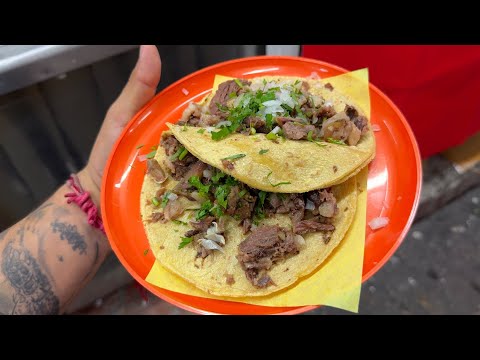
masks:
[[[178,125],[168,126],[196,157],[264,191],[270,180],[289,181],[281,190],[296,193],[339,184],[375,154],[363,109],[330,83],[313,79],[227,80],[202,103],[191,103]],[[238,153],[245,161],[232,166],[223,160]]]

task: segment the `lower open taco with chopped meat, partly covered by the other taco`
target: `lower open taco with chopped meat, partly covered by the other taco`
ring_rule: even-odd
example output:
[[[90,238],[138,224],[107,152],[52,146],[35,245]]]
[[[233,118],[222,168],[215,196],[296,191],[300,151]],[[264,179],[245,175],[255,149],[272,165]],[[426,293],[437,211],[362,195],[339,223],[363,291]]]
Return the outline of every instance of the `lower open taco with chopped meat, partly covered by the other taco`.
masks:
[[[356,210],[355,178],[300,194],[262,191],[202,162],[170,132],[147,161],[140,205],[150,248],[213,295],[263,296],[295,283],[340,243]]]

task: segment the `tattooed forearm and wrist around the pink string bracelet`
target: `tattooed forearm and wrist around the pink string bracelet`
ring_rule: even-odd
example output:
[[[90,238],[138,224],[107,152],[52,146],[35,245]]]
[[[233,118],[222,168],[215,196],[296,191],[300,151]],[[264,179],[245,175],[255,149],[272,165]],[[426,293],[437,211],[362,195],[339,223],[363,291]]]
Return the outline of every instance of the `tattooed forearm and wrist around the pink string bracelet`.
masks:
[[[83,170],[80,182],[98,204],[98,188]],[[1,235],[0,312],[57,314],[98,270],[107,239],[86,214],[68,205],[66,186]]]

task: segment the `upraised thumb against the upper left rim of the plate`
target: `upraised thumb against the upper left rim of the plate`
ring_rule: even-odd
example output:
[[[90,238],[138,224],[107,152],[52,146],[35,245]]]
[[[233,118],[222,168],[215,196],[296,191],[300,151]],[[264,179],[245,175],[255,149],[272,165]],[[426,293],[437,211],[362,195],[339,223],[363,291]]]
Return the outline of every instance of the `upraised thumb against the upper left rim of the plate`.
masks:
[[[106,123],[125,124],[155,95],[162,63],[155,45],[142,45],[138,62],[122,93],[110,107]]]

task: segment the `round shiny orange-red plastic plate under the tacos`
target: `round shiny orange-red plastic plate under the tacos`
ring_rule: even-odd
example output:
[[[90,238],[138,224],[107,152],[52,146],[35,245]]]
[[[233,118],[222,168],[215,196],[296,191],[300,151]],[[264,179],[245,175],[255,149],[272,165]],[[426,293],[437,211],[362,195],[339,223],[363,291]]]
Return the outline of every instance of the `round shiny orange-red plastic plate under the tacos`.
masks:
[[[150,152],[159,143],[166,122],[176,122],[191,101],[199,101],[211,91],[216,74],[250,78],[264,75],[307,77],[317,72],[322,78],[347,70],[322,61],[299,57],[263,56],[223,62],[172,84],[150,101],[128,123],[110,155],[102,183],[102,216],[113,251],[130,274],[160,298],[183,309],[215,314],[298,314],[316,306],[265,307],[212,300],[168,291],[144,279],[155,258],[140,218],[140,190],[145,162],[137,156]],[[184,90],[188,95],[184,94]],[[183,91],[182,91],[183,90]],[[393,102],[370,85],[371,122],[377,153],[369,166],[367,223],[377,216],[387,216],[387,227],[371,231],[367,226],[363,281],[377,272],[392,256],[405,237],[417,209],[422,170],[415,137],[405,117]],[[140,144],[145,144],[137,149]]]

